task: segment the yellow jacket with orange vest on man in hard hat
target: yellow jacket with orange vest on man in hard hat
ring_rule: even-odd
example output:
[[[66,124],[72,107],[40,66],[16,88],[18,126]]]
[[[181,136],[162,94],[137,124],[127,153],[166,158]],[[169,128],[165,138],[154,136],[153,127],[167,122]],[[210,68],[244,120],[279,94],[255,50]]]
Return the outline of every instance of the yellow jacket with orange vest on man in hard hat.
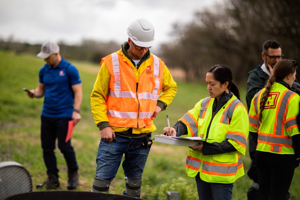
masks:
[[[120,49],[102,58],[91,110],[96,124],[107,121],[116,132],[132,127],[134,134],[149,133],[156,130],[152,114],[157,101],[169,105],[176,91],[176,82],[160,58],[151,53],[137,69]]]

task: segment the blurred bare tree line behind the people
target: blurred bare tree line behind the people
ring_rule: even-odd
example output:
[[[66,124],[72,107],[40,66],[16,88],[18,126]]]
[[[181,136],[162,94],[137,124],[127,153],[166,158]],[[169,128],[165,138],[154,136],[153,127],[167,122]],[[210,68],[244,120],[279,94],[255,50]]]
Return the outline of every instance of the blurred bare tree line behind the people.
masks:
[[[192,5],[191,5],[192,6]],[[188,82],[203,82],[208,68],[225,64],[235,82],[245,83],[247,73],[262,64],[262,44],[269,39],[282,46],[284,58],[300,62],[300,0],[224,0],[198,11],[187,24],[173,24],[174,40],[156,53],[169,68],[185,72]],[[120,44],[83,40],[80,45],[58,42],[67,59],[100,63]],[[37,54],[41,44],[0,38],[0,49]],[[297,74],[300,80],[300,73]]]

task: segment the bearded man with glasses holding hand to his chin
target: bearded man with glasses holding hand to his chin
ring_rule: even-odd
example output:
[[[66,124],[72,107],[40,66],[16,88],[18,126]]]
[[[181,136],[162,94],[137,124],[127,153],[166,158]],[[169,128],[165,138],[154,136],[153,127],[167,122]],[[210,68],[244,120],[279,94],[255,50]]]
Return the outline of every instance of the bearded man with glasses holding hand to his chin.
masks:
[[[276,40],[267,40],[262,45],[262,59],[263,64],[258,65],[255,69],[248,73],[247,80],[247,91],[246,91],[246,102],[248,111],[250,109],[251,100],[254,95],[265,87],[265,83],[269,77],[273,74],[273,68],[275,64],[283,59],[281,45]],[[293,91],[300,94],[300,85],[297,79],[292,85]],[[253,180],[252,187],[247,191],[248,200],[256,199],[259,185],[258,185],[258,175],[255,164],[255,152],[257,146],[257,134],[249,132],[249,154],[251,158],[250,168],[248,169],[247,175]],[[289,198],[289,193],[287,194],[287,199]]]

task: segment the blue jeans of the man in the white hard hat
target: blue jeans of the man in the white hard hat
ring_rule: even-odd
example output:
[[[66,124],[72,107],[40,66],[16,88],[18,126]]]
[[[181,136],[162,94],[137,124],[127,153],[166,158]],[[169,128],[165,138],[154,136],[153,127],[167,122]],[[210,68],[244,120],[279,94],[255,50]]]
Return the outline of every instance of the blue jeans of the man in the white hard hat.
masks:
[[[145,137],[151,137],[151,133]],[[127,138],[116,135],[118,141],[112,143],[101,139],[96,158],[96,177],[112,181],[116,177],[123,154],[125,154],[125,160],[122,163],[124,175],[132,179],[142,178],[150,151],[150,148],[142,145],[145,137]]]

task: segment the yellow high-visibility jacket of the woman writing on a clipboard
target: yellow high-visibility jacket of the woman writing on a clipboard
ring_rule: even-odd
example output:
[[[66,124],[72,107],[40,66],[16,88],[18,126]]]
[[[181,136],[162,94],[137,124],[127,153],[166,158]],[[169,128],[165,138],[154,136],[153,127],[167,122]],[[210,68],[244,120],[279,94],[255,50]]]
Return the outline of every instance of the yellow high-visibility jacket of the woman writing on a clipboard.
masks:
[[[212,112],[215,98],[200,100],[179,120],[187,125],[188,137],[201,137],[222,142],[228,140],[237,151],[215,155],[203,155],[199,151],[189,150],[186,159],[186,172],[194,177],[200,172],[200,178],[209,183],[233,183],[244,175],[241,157],[245,155],[249,129],[248,114],[245,106],[233,95],[217,112]],[[211,126],[209,124],[211,122]]]

